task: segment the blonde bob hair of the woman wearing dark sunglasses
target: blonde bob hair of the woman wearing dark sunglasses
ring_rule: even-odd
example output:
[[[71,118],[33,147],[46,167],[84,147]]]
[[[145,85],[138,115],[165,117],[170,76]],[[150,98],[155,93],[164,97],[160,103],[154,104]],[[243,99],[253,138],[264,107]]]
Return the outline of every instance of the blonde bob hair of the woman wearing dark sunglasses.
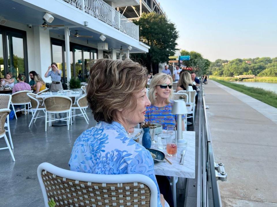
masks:
[[[152,105],[156,104],[156,87],[160,87],[157,85],[161,85],[166,83],[167,79],[170,80],[170,83],[172,85],[172,77],[170,75],[167,75],[165,73],[157,73],[156,75],[153,76],[151,82],[150,82],[150,87],[149,87],[149,92],[148,92],[148,98],[151,102]],[[173,95],[173,89],[171,88],[169,98],[166,99],[166,103],[170,103],[170,99]]]

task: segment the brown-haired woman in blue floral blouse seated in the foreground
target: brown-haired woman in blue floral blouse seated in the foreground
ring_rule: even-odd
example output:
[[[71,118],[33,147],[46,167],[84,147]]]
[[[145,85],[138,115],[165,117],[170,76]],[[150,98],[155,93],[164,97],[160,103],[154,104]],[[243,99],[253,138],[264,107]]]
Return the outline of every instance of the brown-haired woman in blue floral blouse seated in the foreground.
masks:
[[[144,121],[150,105],[146,84],[147,69],[130,59],[99,59],[90,67],[87,101],[98,124],[76,139],[69,165],[93,174],[144,174],[155,182],[158,206],[164,206],[150,152],[127,133]]]

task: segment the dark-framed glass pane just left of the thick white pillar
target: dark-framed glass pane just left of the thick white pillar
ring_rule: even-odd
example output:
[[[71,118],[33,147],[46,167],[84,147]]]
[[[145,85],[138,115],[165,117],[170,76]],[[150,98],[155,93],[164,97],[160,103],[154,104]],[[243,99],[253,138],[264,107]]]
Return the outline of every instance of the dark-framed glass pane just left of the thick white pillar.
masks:
[[[19,74],[25,74],[23,38],[7,35],[7,43],[9,72],[17,80]]]

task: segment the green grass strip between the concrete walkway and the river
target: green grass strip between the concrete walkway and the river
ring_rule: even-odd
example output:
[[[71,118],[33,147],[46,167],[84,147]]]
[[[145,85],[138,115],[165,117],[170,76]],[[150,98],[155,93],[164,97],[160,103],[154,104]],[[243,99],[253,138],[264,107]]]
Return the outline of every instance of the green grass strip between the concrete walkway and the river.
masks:
[[[239,92],[242,92],[248,96],[251,96],[253,98],[256,98],[268,105],[271,105],[275,108],[277,108],[277,94],[271,91],[267,91],[261,88],[254,88],[254,87],[248,87],[244,85],[239,85],[236,83],[230,83],[229,81],[219,80],[210,77],[210,80],[214,80],[218,83],[221,83],[224,86],[227,86],[229,88],[232,88],[234,90],[237,90]]]

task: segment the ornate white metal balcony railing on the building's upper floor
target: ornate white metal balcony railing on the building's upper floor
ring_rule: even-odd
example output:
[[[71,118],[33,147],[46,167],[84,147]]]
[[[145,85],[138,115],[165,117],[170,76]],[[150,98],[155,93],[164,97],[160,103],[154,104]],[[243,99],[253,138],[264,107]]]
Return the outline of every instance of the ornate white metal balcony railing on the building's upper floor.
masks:
[[[102,0],[63,0],[66,3],[139,40],[139,26]]]

